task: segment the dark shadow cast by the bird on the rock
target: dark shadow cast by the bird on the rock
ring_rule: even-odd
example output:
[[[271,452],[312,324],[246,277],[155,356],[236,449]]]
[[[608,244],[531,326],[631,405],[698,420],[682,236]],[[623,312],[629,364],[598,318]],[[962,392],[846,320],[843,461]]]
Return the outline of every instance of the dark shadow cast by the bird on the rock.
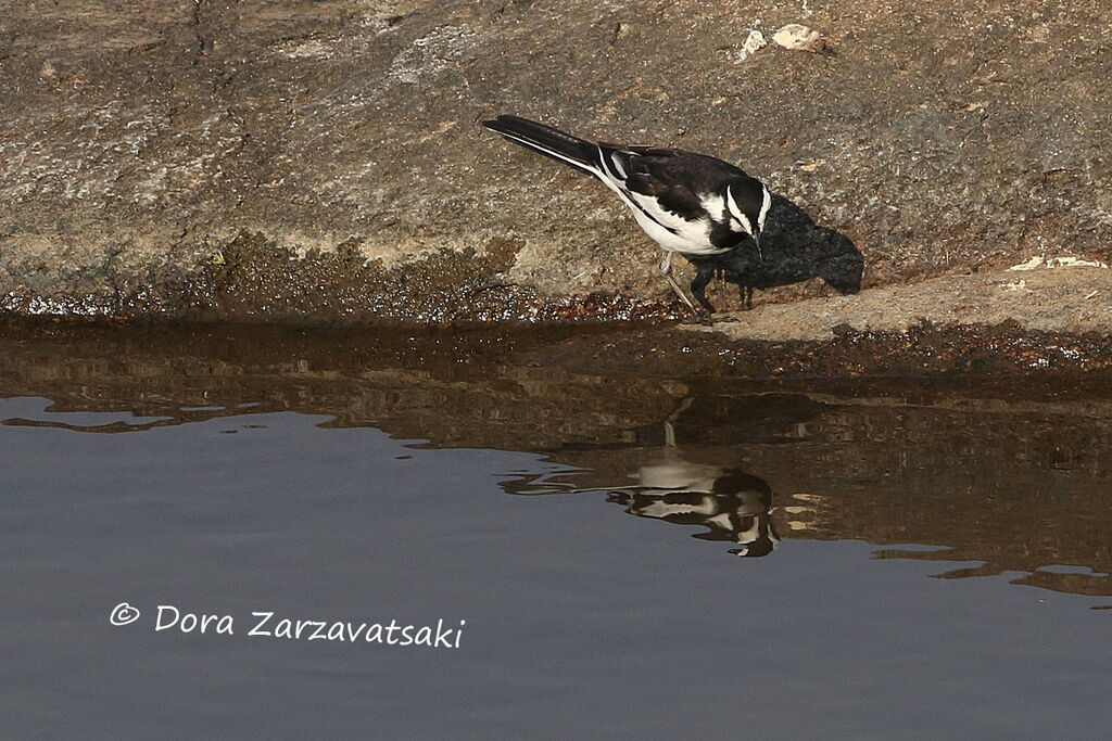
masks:
[[[853,240],[840,231],[820,227],[783,196],[773,196],[761,251],[759,262],[751,262],[733,274],[727,272],[726,280],[770,289],[822,278],[838,293],[861,290],[865,258]]]

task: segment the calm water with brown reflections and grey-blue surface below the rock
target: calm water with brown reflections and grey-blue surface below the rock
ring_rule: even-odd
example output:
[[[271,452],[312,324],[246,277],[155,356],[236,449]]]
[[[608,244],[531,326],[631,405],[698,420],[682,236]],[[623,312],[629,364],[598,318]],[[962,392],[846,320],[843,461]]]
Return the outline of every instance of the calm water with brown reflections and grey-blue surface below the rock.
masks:
[[[1112,722],[1112,401],[40,334],[0,340],[4,738]]]

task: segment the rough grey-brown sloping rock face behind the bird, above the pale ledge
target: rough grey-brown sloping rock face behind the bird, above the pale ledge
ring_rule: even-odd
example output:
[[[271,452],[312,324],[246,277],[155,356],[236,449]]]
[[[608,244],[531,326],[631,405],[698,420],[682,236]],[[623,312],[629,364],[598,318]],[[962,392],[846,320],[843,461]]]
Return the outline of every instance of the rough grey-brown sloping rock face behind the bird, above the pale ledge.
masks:
[[[1112,0],[9,2],[0,310],[671,306],[623,207],[483,132],[499,112],[766,179],[786,199],[774,223],[798,221],[790,201],[816,227],[770,240],[787,268],[758,302],[828,293],[832,236],[863,256],[865,288],[1036,254],[1109,262],[1110,13]],[[824,53],[744,53],[751,31],[794,22]],[[609,298],[575,299],[596,291]]]

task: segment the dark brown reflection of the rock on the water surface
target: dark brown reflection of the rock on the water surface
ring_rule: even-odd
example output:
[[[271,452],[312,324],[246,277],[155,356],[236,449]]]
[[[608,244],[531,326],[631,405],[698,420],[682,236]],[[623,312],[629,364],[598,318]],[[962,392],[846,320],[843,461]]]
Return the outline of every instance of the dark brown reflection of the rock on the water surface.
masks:
[[[410,332],[47,326],[32,337],[0,332],[0,395],[46,397],[57,411],[159,418],[87,428],[99,432],[249,412],[328,414],[331,425],[373,425],[430,447],[542,453],[560,471],[545,485],[623,492],[642,483],[631,473],[661,463],[671,420],[682,460],[768,482],[770,532],[785,540],[936,545],[944,550],[880,555],[974,561],[982,565],[940,563],[939,572],[1021,572],[1020,581],[1046,589],[1112,594],[1112,578],[1101,575],[1112,573],[1106,391],[1078,395],[1071,379],[1042,397],[1026,383],[985,391],[963,380],[854,387],[843,379],[836,392],[824,380],[788,392],[774,382],[585,372],[572,351],[548,352],[566,361],[536,363],[544,342],[567,347],[553,336],[476,342]],[[676,492],[638,493],[657,501],[618,503],[646,517],[688,504],[711,518],[731,508],[744,517],[754,507],[727,500],[712,510],[669,501]],[[600,517],[610,512],[600,505]]]

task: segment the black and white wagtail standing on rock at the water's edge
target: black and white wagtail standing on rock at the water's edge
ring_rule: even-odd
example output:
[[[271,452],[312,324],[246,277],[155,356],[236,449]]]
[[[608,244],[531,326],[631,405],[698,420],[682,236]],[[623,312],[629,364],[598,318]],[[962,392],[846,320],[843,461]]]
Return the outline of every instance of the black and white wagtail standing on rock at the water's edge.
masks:
[[[672,277],[676,252],[695,266],[691,291],[708,312],[714,313],[714,306],[706,287],[716,273],[742,287],[743,303],[752,301],[752,286],[743,277],[763,259],[761,233],[772,206],[772,193],[756,178],[707,154],[589,142],[517,116],[499,116],[483,126],[595,176],[617,193],[664,250],[661,272],[692,311],[697,313]]]

